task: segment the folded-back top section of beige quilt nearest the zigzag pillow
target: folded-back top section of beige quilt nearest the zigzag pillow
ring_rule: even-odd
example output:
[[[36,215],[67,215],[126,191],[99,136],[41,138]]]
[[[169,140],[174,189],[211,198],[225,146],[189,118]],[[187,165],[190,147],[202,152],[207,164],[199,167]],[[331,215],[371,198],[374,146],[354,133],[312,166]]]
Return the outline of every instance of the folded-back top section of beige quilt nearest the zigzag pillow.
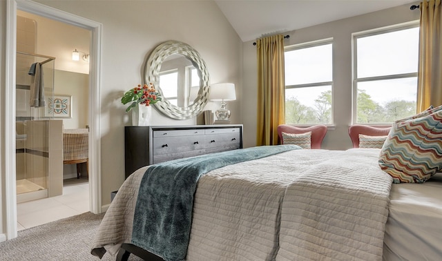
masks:
[[[330,153],[287,188],[276,260],[382,260],[392,178],[378,150]]]

